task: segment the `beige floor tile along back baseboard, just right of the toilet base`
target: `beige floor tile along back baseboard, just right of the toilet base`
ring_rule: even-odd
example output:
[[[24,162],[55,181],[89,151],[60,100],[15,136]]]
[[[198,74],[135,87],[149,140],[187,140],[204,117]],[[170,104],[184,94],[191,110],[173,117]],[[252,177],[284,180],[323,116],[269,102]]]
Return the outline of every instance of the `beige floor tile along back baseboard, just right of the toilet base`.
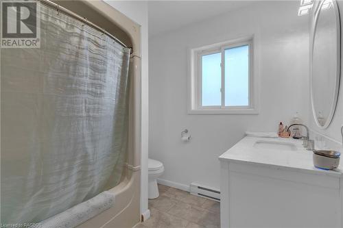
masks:
[[[178,190],[176,188],[169,188],[163,193],[163,196],[170,197],[171,199],[176,199],[184,203],[190,203],[198,207],[201,207],[201,205],[206,201],[206,199],[202,197],[197,197],[193,194],[189,194],[189,192]]]

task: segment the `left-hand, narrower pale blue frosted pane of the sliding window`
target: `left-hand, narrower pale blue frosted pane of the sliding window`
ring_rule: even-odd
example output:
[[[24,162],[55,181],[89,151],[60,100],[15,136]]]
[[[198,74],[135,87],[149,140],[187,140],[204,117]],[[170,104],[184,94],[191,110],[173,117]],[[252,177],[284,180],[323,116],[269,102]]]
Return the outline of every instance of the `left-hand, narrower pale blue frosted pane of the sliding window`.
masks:
[[[202,106],[222,105],[221,53],[202,56]]]

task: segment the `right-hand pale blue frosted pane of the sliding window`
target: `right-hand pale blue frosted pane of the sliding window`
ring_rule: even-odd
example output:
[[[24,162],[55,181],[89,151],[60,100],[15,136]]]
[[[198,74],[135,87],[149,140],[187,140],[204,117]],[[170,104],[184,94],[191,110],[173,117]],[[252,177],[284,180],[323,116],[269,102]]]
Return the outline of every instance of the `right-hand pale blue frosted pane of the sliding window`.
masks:
[[[249,46],[225,50],[225,106],[249,105]]]

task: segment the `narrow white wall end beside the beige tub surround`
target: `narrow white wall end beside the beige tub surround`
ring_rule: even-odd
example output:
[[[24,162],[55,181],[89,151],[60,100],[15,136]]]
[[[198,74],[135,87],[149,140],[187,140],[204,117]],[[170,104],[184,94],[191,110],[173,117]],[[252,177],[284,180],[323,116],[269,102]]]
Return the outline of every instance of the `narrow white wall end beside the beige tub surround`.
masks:
[[[149,134],[147,1],[105,1],[141,25],[141,214],[143,214],[147,211],[147,143]]]

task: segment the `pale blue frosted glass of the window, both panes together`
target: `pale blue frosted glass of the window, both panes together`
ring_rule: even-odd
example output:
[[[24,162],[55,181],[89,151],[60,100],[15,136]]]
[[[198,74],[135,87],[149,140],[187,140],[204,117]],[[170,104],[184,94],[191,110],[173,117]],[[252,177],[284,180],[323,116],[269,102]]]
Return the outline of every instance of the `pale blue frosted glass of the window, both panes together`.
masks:
[[[202,106],[222,105],[222,53],[202,55]],[[249,105],[249,46],[224,50],[225,106]]]

